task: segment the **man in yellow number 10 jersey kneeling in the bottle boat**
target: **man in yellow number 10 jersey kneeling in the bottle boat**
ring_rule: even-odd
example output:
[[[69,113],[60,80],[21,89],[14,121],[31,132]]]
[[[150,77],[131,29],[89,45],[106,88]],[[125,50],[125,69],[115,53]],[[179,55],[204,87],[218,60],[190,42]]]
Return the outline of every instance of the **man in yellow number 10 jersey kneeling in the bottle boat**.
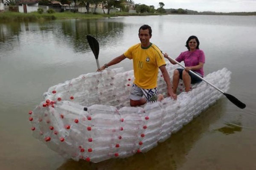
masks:
[[[166,62],[160,49],[149,42],[152,36],[151,27],[143,25],[139,29],[139,44],[131,46],[124,54],[112,59],[107,64],[103,65],[98,71],[102,71],[111,65],[121,62],[123,59],[133,59],[134,67],[134,84],[131,88],[130,105],[139,106],[146,102],[156,102],[157,97],[157,75],[158,68],[162,71],[164,80],[167,84],[168,95],[173,99],[177,99],[176,94],[172,91],[169,74],[166,70]],[[142,96],[145,96],[143,98]]]

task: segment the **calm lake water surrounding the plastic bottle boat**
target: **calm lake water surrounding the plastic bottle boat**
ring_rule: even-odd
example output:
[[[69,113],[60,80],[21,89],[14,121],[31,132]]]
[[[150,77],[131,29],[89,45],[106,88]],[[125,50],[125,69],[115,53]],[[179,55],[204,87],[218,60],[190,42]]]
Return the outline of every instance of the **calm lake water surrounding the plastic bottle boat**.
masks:
[[[151,42],[171,57],[196,35],[206,56],[205,74],[232,71],[226,98],[147,153],[98,164],[65,160],[32,137],[28,111],[52,85],[96,71],[86,35],[99,41],[100,65],[139,42],[138,29],[152,28]],[[255,170],[256,16],[164,15],[100,20],[0,24],[0,169],[3,170]],[[111,68],[132,69],[125,59]]]

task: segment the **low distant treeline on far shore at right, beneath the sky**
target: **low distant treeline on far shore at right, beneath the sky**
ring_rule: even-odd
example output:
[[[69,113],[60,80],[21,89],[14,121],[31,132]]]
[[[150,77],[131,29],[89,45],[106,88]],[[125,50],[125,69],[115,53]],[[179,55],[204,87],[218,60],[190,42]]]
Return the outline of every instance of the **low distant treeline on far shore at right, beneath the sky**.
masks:
[[[255,12],[213,12],[213,11],[193,11],[189,9],[165,9],[167,14],[204,14],[204,15],[256,15]]]

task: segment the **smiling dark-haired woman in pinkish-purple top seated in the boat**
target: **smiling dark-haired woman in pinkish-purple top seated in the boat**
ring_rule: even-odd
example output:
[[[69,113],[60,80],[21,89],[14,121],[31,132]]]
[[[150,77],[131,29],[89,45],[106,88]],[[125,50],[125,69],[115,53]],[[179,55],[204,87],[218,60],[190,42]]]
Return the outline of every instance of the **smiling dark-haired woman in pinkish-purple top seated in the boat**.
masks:
[[[182,79],[185,85],[185,91],[188,92],[190,89],[190,85],[194,83],[201,82],[202,80],[196,77],[195,75],[189,73],[189,70],[194,71],[201,77],[204,77],[204,51],[199,49],[199,40],[195,36],[190,36],[186,41],[186,47],[188,51],[184,51],[180,53],[179,57],[175,60],[177,62],[184,61],[185,69],[178,68],[173,73],[173,92],[177,92],[177,87],[179,83],[179,79]],[[169,59],[172,64],[176,64],[174,60],[168,57],[168,54],[164,54],[164,57]]]

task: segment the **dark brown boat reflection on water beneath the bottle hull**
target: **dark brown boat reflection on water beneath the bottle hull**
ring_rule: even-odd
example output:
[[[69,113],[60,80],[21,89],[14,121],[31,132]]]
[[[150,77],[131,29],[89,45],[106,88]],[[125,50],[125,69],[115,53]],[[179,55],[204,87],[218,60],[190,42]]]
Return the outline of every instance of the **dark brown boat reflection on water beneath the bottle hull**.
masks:
[[[186,155],[201,139],[202,133],[206,133],[209,126],[220,119],[222,113],[226,111],[224,100],[218,100],[215,105],[202,112],[178,133],[147,153],[135,154],[125,159],[110,159],[97,164],[70,159],[58,170],[177,170],[186,162]]]

